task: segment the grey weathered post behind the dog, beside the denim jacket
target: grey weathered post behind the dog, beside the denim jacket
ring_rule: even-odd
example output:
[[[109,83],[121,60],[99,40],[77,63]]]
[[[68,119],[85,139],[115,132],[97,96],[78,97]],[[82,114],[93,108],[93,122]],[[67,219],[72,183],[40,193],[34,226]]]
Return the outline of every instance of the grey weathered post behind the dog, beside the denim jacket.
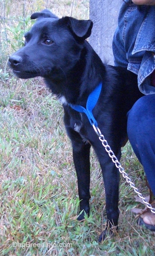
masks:
[[[93,21],[89,43],[104,63],[113,65],[112,38],[118,24],[122,0],[90,0]]]

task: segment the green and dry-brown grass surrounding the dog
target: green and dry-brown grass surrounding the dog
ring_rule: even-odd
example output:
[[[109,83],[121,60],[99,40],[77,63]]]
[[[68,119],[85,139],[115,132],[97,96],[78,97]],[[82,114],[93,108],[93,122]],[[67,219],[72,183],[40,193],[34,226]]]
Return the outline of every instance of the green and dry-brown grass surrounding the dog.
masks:
[[[17,2],[22,15],[24,1]],[[42,9],[46,2],[26,1],[26,14],[35,11],[37,4]],[[69,0],[49,1],[49,8],[59,16],[70,15],[72,10],[74,17],[88,17],[88,1],[74,1],[73,8]],[[6,11],[10,19],[18,17],[14,1],[6,1]],[[14,25],[8,20],[6,26],[12,29]],[[77,221],[77,178],[63,125],[63,108],[42,79],[12,76],[4,56],[13,51],[14,33],[6,33],[10,43],[5,47],[1,41],[5,54],[0,68],[0,255],[155,255],[155,233],[137,225],[131,209],[141,204],[135,202],[135,193],[122,177],[119,233],[98,243],[106,225],[105,193],[93,151],[91,215],[84,222]],[[147,195],[143,169],[129,143],[122,149],[121,163]]]

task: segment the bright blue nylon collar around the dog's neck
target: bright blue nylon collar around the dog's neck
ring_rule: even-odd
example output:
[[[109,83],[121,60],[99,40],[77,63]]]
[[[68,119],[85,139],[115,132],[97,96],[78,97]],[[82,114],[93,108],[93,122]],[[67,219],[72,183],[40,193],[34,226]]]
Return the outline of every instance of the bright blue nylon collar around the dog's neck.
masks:
[[[73,105],[73,104],[69,104],[69,106],[71,108],[73,108],[74,110],[80,112],[80,113],[85,113],[86,116],[89,119],[89,122],[91,125],[95,125],[98,127],[98,123],[96,121],[96,119],[94,118],[92,111],[95,108],[96,103],[98,102],[98,98],[100,96],[100,91],[102,89],[102,83],[100,83],[95,90],[92,91],[92,93],[89,94],[87,102],[86,102],[86,108],[80,106],[80,105]]]

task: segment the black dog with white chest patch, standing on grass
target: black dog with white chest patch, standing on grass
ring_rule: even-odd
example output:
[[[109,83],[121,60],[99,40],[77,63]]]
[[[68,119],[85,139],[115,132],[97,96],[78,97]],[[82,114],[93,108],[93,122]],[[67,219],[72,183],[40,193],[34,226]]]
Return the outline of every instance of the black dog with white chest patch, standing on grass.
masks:
[[[72,141],[73,159],[78,176],[80,211],[89,215],[89,151],[95,149],[103,172],[106,192],[107,227],[118,226],[119,172],[103,148],[85,113],[71,105],[86,108],[87,98],[100,83],[102,89],[93,109],[98,127],[118,160],[127,141],[126,113],[142,96],[137,76],[126,69],[104,65],[89,43],[91,20],[57,18],[48,10],[32,14],[37,22],[25,35],[25,47],[9,58],[9,66],[19,78],[42,76],[64,108],[64,123]],[[78,220],[84,218],[84,211]],[[106,236],[106,230],[99,241]],[[112,233],[112,229],[110,230]]]

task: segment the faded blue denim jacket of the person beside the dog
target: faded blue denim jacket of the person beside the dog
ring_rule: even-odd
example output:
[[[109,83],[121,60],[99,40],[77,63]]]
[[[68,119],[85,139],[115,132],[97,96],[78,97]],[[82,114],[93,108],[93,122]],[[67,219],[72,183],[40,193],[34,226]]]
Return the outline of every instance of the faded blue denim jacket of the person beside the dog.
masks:
[[[112,47],[115,66],[137,74],[142,93],[155,93],[149,76],[155,70],[155,6],[124,0]]]

